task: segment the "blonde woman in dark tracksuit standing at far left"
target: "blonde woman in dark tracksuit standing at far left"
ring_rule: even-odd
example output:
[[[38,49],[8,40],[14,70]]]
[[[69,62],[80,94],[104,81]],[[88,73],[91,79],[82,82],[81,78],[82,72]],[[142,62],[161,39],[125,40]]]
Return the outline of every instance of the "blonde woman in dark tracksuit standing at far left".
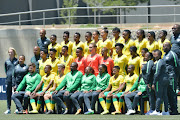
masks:
[[[16,58],[16,50],[14,48],[9,48],[8,50],[9,59],[5,61],[5,73],[6,73],[6,96],[7,96],[7,111],[4,114],[11,113],[11,95],[12,95],[12,73],[15,66],[18,64]]]

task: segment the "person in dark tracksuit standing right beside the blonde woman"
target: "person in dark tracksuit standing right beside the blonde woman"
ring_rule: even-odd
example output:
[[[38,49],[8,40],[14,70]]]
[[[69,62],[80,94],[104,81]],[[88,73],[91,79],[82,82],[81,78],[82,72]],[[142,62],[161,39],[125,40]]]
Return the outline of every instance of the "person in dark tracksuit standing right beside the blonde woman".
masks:
[[[12,75],[12,87],[14,91],[18,88],[18,85],[23,80],[23,77],[28,73],[28,66],[24,64],[25,56],[19,56],[19,64],[15,66],[13,75]]]

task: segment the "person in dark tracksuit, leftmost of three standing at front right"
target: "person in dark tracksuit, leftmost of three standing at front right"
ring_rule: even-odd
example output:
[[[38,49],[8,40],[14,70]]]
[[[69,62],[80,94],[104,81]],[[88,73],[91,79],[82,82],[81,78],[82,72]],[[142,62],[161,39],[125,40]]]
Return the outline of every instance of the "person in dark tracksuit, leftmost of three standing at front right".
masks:
[[[142,67],[142,77],[147,84],[147,93],[149,96],[149,103],[150,103],[150,110],[146,113],[146,115],[149,115],[155,110],[155,91],[152,90],[152,83],[153,83],[153,71],[152,67],[154,65],[154,62],[151,60],[153,58],[152,53],[147,52],[145,54],[144,60],[147,61],[146,64],[143,64]]]

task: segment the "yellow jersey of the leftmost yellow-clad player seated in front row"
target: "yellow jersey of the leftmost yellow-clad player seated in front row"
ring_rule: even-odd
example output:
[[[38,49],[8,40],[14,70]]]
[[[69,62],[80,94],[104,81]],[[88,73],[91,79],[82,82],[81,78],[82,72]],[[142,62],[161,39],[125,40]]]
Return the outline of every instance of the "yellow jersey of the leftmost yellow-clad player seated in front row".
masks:
[[[48,77],[46,77],[46,74],[42,77],[41,81],[43,81],[43,83],[44,83],[42,91],[44,91],[47,88],[47,86],[49,85],[51,80],[53,80],[53,81],[55,80],[55,75],[52,73]],[[49,87],[48,90],[50,90],[52,88],[52,85]]]

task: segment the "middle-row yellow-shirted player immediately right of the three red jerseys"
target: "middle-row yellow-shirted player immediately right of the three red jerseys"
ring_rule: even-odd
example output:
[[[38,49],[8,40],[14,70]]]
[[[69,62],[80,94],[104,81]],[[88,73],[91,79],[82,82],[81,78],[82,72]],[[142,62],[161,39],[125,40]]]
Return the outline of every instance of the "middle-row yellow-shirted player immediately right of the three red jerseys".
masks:
[[[127,75],[128,60],[127,56],[122,53],[124,45],[122,43],[116,43],[115,47],[117,55],[114,58],[114,66],[119,66],[119,74],[125,77]]]

